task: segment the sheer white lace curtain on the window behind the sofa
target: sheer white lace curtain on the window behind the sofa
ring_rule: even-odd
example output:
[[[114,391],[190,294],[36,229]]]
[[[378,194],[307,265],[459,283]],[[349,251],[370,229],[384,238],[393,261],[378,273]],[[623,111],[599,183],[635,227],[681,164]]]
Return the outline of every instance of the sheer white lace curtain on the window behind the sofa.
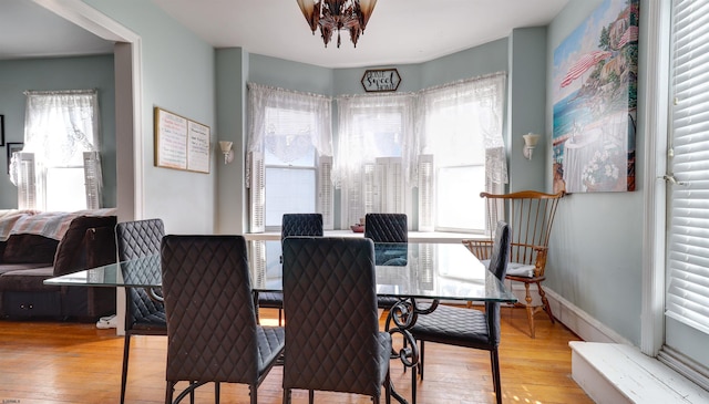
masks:
[[[22,153],[32,156],[34,160],[35,183],[19,182],[27,176],[21,173],[23,167],[28,168],[19,160],[14,160],[11,167],[11,178],[13,184],[28,186],[32,184],[33,189],[21,189],[20,194],[32,195],[35,206],[33,208],[44,210],[51,204],[58,201],[61,195],[48,195],[51,190],[62,189],[61,184],[48,184],[48,176],[66,179],[70,170],[84,173],[84,153],[93,153],[89,172],[93,173],[92,180],[86,183],[92,189],[83,189],[85,195],[72,195],[74,200],[81,200],[82,205],[76,205],[76,209],[99,208],[100,206],[84,206],[85,196],[91,195],[91,200],[99,203],[96,196],[101,195],[103,185],[101,176],[100,158],[97,152],[100,145],[100,122],[99,122],[99,92],[96,90],[56,91],[39,92],[29,91],[27,95],[27,110],[24,122],[24,145]],[[85,174],[81,174],[85,176]],[[75,177],[75,176],[74,176]],[[83,186],[84,179],[79,179]],[[69,186],[69,185],[66,185]],[[64,190],[68,189],[64,187]],[[65,191],[63,193],[65,194]],[[48,199],[49,198],[49,199]],[[49,204],[49,205],[48,205]],[[73,206],[71,201],[66,206]]]

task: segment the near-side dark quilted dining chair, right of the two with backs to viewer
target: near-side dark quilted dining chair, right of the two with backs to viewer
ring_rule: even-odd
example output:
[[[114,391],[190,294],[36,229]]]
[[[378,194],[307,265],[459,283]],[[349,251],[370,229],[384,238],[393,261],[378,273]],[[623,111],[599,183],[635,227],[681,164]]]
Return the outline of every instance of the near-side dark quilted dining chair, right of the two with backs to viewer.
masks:
[[[284,403],[294,389],[391,401],[391,335],[379,331],[369,239],[284,240]]]

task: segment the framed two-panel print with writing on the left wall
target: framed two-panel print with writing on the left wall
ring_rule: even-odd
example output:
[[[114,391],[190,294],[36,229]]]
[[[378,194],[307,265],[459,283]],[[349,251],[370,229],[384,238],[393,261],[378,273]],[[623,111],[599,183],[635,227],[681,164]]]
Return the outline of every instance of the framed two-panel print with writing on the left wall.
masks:
[[[209,173],[209,126],[155,107],[155,165]]]

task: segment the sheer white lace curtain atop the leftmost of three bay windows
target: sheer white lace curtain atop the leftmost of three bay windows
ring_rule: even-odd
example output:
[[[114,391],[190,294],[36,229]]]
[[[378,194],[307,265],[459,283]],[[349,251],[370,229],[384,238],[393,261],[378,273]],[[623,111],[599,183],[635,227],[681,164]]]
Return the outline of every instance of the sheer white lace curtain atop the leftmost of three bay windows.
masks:
[[[265,149],[285,162],[295,160],[312,145],[320,156],[332,156],[331,100],[319,94],[301,93],[248,83],[247,156]],[[289,111],[309,112],[308,118]],[[268,114],[280,114],[274,117]],[[271,123],[268,127],[267,122]],[[276,122],[276,124],[274,124]],[[281,125],[284,127],[274,127]],[[309,143],[301,142],[305,135]],[[294,142],[295,141],[295,142]],[[249,157],[247,157],[249,158]],[[250,164],[246,165],[246,186],[250,186]]]

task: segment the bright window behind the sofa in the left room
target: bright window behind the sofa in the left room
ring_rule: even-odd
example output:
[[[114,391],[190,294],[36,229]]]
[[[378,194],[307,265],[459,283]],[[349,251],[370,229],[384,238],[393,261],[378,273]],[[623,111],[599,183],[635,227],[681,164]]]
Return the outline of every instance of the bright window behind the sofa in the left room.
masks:
[[[101,207],[97,92],[27,92],[24,147],[13,156],[18,207]]]

